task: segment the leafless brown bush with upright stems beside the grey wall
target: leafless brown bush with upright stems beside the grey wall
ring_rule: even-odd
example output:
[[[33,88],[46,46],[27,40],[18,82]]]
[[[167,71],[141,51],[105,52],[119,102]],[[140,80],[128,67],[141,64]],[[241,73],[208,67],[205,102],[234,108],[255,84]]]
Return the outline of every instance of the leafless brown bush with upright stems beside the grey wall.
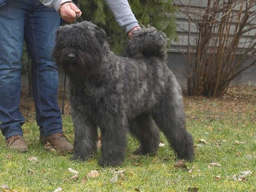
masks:
[[[256,1],[202,1],[206,5],[195,8],[193,1],[184,5],[180,0],[179,11],[188,16],[188,94],[220,97],[231,80],[256,63],[253,59],[244,64],[256,53]],[[196,35],[191,32],[193,23]]]

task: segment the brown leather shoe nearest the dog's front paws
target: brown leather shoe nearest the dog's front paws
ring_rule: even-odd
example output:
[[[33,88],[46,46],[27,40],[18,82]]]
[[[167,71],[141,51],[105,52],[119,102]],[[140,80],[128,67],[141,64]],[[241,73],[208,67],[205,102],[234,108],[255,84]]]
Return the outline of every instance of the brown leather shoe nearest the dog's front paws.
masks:
[[[39,142],[46,144],[47,142],[51,143],[52,147],[58,151],[63,152],[73,152],[74,147],[71,143],[68,142],[67,137],[64,133],[54,133],[50,136],[43,137],[40,135]]]

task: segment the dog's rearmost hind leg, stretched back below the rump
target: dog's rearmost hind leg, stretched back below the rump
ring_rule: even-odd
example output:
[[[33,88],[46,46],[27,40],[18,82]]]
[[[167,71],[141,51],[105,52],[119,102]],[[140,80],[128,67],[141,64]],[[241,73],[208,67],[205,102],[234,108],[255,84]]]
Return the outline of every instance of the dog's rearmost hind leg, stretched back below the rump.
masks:
[[[153,110],[153,119],[180,159],[192,161],[194,145],[192,136],[185,129],[185,112],[181,95],[164,98]]]

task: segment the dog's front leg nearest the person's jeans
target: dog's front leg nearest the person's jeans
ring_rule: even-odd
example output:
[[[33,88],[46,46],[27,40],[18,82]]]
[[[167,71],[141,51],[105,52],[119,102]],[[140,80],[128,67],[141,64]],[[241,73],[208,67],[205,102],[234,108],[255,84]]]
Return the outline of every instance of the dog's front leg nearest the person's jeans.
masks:
[[[72,118],[74,123],[74,156],[71,160],[86,160],[93,155],[97,149],[96,142],[98,140],[97,127],[92,121],[81,112],[72,110]]]

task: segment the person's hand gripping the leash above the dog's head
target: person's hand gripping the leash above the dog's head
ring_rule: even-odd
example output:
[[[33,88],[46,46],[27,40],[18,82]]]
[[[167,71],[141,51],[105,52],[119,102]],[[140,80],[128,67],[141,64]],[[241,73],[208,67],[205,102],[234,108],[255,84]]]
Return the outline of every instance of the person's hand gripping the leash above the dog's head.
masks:
[[[60,4],[66,2],[67,0],[62,0]],[[60,16],[63,20],[67,22],[72,22],[76,19],[76,13],[81,16],[82,12],[74,3],[65,3],[60,8]]]

